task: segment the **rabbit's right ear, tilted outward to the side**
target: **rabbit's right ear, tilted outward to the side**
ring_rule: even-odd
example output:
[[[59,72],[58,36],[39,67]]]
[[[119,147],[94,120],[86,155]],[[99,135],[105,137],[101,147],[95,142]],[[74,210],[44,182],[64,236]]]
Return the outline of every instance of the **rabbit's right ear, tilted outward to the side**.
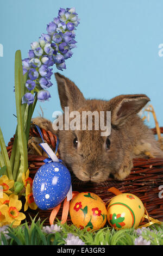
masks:
[[[145,94],[120,95],[109,101],[111,110],[111,123],[113,125],[122,125],[126,120],[135,114],[147,104],[150,99]]]

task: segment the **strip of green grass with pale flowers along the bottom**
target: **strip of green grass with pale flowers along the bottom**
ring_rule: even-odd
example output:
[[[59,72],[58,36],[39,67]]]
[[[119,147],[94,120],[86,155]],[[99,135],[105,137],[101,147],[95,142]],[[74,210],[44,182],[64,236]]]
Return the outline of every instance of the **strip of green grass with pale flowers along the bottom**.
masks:
[[[2,229],[4,229],[2,231]],[[163,245],[163,224],[144,229],[116,231],[105,227],[97,231],[78,229],[67,223],[43,227],[41,220],[23,223],[14,228],[0,228],[1,245]]]

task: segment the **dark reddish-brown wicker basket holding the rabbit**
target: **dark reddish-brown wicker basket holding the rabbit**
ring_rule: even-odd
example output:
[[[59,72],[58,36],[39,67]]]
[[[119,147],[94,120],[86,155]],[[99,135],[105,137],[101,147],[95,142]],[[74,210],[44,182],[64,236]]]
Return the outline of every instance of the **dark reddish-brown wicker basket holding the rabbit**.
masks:
[[[156,130],[152,129],[156,134]],[[160,128],[161,133],[163,133],[163,127]],[[51,145],[52,149],[55,150],[55,135],[50,131],[41,130],[43,139]],[[40,137],[39,132],[35,127],[31,127],[30,136]],[[12,145],[14,143],[14,138],[10,139],[8,143],[8,154],[11,155]],[[34,178],[37,169],[39,169],[43,164],[46,156],[30,155],[28,154],[29,162],[29,171],[30,177]],[[145,205],[149,216],[163,221],[163,198],[159,198],[159,186],[163,185],[163,159],[134,159],[134,168],[131,170],[130,175],[123,181],[117,181],[114,178],[109,178],[102,184],[95,184],[92,182],[82,182],[71,173],[72,176],[72,189],[73,191],[89,191],[96,193],[99,197],[103,199],[106,203],[110,198],[114,196],[111,192],[108,191],[109,187],[116,187],[121,192],[129,192],[135,194],[139,197],[143,204]],[[24,199],[24,197],[23,197]],[[41,220],[45,220],[44,225],[49,225],[49,216],[51,210],[43,211],[40,209],[32,210],[28,208],[25,212],[27,216],[27,221],[30,222],[30,216],[33,218],[39,212],[37,217],[40,217]],[[61,219],[62,206],[57,215]],[[30,216],[29,216],[30,215]],[[71,223],[70,216],[67,218],[67,223]],[[142,223],[143,224],[143,223]]]

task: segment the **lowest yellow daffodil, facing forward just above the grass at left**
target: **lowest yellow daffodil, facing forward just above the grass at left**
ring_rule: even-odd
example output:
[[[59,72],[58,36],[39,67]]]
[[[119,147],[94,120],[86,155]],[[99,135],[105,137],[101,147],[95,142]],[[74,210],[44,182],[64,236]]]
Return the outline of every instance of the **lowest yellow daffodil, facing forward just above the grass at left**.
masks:
[[[5,216],[5,224],[13,223],[14,226],[20,225],[21,221],[26,218],[22,212],[20,212],[22,208],[22,202],[18,200],[18,196],[15,194],[11,194],[9,197],[9,205],[2,204],[0,205],[1,214]]]

